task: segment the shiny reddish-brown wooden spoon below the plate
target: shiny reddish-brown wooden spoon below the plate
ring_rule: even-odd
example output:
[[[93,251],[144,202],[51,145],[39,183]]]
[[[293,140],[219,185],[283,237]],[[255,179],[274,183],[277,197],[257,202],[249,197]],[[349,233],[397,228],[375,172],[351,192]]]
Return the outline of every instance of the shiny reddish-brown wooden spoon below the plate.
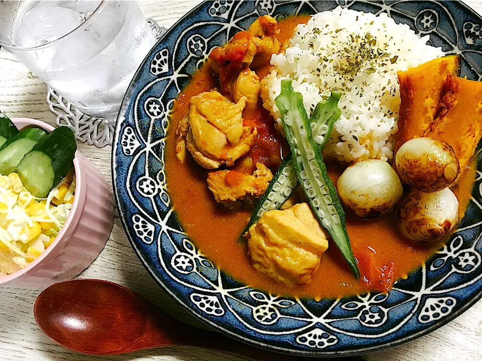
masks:
[[[47,336],[81,353],[113,355],[188,345],[256,359],[301,359],[188,326],[128,288],[103,280],[77,279],[48,287],[35,301],[34,315]]]

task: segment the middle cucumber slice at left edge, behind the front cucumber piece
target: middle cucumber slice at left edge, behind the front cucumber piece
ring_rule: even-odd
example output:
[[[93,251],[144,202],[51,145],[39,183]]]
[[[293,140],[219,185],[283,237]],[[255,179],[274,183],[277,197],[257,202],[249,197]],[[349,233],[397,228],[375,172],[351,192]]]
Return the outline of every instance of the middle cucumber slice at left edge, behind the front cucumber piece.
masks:
[[[47,136],[40,128],[23,129],[0,147],[0,174],[15,171],[25,154]]]

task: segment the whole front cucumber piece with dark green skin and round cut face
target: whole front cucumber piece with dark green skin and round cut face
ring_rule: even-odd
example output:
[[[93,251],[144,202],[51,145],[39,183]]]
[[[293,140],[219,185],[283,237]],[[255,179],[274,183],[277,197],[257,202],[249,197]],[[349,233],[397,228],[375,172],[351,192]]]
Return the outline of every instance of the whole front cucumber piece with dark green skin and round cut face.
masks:
[[[45,198],[72,167],[77,150],[73,131],[59,127],[35,145],[17,167],[24,187],[35,197]]]

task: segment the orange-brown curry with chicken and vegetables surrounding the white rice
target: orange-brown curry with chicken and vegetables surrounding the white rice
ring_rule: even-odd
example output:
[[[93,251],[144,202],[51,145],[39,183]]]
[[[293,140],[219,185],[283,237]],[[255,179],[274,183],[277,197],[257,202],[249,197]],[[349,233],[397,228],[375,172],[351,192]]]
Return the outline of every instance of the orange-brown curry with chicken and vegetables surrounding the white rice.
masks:
[[[296,139],[292,141],[296,132],[293,130],[290,137],[288,124],[293,110],[279,110],[283,120],[279,122],[278,110],[273,105],[266,106],[267,95],[260,93],[266,90],[263,86],[268,78],[264,78],[273,76],[272,55],[282,54],[294,32],[299,31],[297,26],[310,19],[297,16],[276,22],[269,16],[261,17],[249,31],[239,32],[226,46],[215,48],[178,95],[165,158],[173,209],[185,232],[207,258],[252,287],[317,300],[366,291],[387,292],[396,280],[406,278],[438,250],[463,217],[475,175],[471,159],[480,139],[480,129],[473,125],[480,123],[480,118],[463,114],[476,109],[478,103],[468,104],[473,97],[465,94],[480,92],[482,88],[478,83],[472,84],[476,82],[457,77],[457,57],[441,57],[420,65],[424,73],[433,74],[433,84],[421,79],[417,68],[399,72],[398,137],[395,134],[390,139],[396,151],[393,158],[376,155],[350,165],[325,156],[323,151],[329,175],[324,180],[329,183],[328,188],[338,188],[337,197],[329,193],[333,207],[328,209],[334,213],[325,223],[320,211],[315,210],[319,200],[316,196],[311,198],[310,187],[303,188],[303,172],[309,169],[300,172],[300,156],[293,156],[292,171],[298,174],[294,179],[297,185],[300,179],[301,187],[289,188],[291,192],[283,205],[264,209],[266,195],[276,189],[273,184],[279,184],[280,174],[284,177],[289,173],[277,172],[280,163],[287,166],[290,150],[295,155],[299,150]],[[292,89],[288,86],[282,81],[281,95],[276,100],[278,109],[283,109],[284,94],[295,94],[288,93]],[[329,99],[320,102],[325,114],[333,114],[333,120],[328,119],[323,127],[321,140],[315,139],[316,125],[311,126],[311,140],[315,148],[320,148],[315,160],[321,159],[323,146],[330,146],[326,143],[329,127],[340,116],[338,90],[330,89],[331,95],[326,97]],[[459,93],[464,96],[460,101],[464,104],[457,106]],[[424,105],[417,97],[432,103],[427,108],[427,102]],[[482,92],[478,99],[482,99]],[[313,110],[311,119],[315,113]],[[450,134],[453,119],[461,117],[462,129],[456,131],[473,135],[466,146],[457,143],[461,136]],[[425,159],[424,147],[436,149],[439,156],[435,160]],[[321,173],[323,167],[324,163],[320,165]],[[315,165],[312,169],[317,171]],[[359,199],[371,191],[359,190],[353,179],[378,172],[390,189],[384,192],[391,194],[383,202],[379,195],[375,201],[367,198],[370,205],[364,205]],[[358,191],[362,196],[353,199]],[[420,216],[414,215],[421,207],[418,200],[426,197],[427,202],[433,202],[428,199],[435,194],[441,200],[453,198],[455,204],[452,208],[443,206],[453,209],[456,215],[451,221],[442,222],[441,228],[423,224]],[[263,205],[259,204],[260,199],[265,202]],[[373,206],[373,202],[378,203]],[[346,242],[342,234],[336,233],[343,222],[346,240],[349,238]]]

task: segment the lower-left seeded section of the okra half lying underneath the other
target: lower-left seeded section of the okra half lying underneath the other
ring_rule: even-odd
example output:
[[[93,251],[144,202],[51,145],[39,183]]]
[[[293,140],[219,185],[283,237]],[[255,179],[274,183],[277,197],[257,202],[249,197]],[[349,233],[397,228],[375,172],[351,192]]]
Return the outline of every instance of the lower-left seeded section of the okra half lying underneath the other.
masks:
[[[243,238],[244,234],[259,221],[265,212],[279,209],[299,185],[290,153],[283,159],[268,189],[256,204],[250,222],[239,239]]]

